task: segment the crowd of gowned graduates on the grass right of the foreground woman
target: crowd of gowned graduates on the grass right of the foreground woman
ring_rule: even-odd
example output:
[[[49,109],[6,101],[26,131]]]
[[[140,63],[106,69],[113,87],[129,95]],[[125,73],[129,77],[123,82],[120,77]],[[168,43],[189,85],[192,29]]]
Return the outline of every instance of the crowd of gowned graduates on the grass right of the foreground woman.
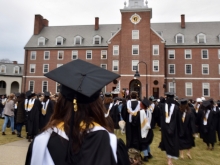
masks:
[[[155,99],[139,99],[138,93],[132,91],[126,98],[113,98],[106,93],[103,102],[107,115],[114,122],[115,133],[121,131],[126,135],[127,148],[143,152],[143,161],[147,162],[151,155],[150,144],[154,138],[153,129],[160,127],[161,142],[158,144],[166,152],[168,165],[172,159],[192,159],[190,150],[195,147],[195,138],[200,137],[213,150],[214,144],[220,141],[220,101],[205,100],[204,97],[191,99],[181,98],[172,92]],[[123,121],[123,122],[122,122]]]

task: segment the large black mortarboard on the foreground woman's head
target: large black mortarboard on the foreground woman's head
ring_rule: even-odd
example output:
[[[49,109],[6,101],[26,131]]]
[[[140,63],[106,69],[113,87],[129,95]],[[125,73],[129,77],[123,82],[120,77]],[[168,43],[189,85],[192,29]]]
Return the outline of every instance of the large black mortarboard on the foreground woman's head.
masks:
[[[45,74],[61,84],[60,93],[68,100],[79,103],[95,101],[101,89],[120,75],[94,64],[77,59]]]

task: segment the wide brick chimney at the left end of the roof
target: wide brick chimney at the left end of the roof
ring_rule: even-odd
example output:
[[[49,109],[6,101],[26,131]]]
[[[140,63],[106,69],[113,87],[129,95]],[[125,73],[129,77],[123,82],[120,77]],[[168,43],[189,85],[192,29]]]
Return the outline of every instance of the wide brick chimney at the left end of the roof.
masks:
[[[40,33],[40,31],[45,27],[48,26],[48,20],[43,19],[43,17],[39,14],[35,15],[34,20],[34,35],[37,35]]]

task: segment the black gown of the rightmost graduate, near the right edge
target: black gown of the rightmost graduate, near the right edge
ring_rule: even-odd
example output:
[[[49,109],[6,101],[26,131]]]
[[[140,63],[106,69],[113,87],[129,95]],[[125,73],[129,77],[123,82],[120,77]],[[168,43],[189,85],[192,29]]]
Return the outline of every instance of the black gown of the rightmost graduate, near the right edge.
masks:
[[[203,142],[214,144],[216,142],[216,112],[211,110],[207,120],[207,125],[203,124],[205,112],[203,109],[199,110],[199,133]]]

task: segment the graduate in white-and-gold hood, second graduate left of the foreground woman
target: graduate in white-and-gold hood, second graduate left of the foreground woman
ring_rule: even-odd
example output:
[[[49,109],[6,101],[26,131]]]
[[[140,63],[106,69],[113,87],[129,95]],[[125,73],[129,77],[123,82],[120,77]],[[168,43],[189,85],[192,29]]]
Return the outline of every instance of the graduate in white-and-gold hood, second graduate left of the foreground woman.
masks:
[[[27,117],[27,138],[31,142],[38,133],[39,133],[39,116],[41,111],[41,102],[38,99],[35,99],[35,93],[32,93],[30,90],[26,92],[26,97],[24,107]]]

